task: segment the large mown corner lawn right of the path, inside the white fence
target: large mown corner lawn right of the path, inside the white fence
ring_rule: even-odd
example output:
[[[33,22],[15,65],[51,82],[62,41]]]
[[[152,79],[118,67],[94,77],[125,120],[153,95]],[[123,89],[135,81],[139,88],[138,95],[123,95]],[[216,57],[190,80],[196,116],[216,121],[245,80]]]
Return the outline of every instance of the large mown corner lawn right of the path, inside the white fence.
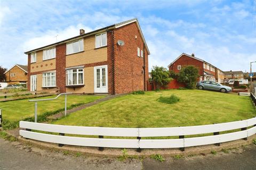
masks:
[[[172,94],[180,98],[178,103],[157,101],[161,96]],[[223,123],[245,120],[255,115],[250,97],[205,90],[163,90],[117,97],[52,123],[150,128]]]

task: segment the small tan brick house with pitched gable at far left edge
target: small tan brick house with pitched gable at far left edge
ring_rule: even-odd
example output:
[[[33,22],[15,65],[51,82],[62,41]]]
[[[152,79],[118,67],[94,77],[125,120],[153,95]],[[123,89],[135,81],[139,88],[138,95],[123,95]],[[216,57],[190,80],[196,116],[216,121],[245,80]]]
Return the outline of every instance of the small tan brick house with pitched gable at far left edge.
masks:
[[[15,64],[4,73],[8,84],[22,84],[27,87],[28,82],[28,66]]]

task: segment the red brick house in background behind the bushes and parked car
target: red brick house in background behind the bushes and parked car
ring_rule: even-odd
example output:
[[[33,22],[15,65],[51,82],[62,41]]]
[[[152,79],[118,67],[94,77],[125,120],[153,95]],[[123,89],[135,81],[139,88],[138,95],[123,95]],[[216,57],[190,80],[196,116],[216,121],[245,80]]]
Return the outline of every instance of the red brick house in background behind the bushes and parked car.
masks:
[[[173,70],[178,73],[183,66],[193,65],[198,68],[199,77],[198,81],[211,80],[224,82],[224,73],[212,64],[195,57],[194,54],[188,55],[182,53],[178,58],[176,58],[168,67],[169,71]]]

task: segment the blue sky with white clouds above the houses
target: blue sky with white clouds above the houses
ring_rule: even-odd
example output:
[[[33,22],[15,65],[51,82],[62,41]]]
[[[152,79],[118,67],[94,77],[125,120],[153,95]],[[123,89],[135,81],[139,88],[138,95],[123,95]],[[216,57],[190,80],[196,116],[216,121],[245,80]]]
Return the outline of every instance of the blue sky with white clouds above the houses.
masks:
[[[0,0],[0,65],[27,64],[26,50],[138,18],[153,65],[195,53],[223,71],[249,71],[256,61],[254,0]],[[256,9],[255,9],[256,10]],[[256,64],[253,64],[256,72]]]

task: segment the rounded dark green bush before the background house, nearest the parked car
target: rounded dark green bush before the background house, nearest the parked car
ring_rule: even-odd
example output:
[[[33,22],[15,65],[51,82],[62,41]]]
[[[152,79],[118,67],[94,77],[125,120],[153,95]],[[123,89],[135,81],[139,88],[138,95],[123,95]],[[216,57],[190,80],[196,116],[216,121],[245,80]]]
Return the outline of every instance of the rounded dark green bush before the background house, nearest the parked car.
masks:
[[[193,65],[189,65],[182,67],[179,72],[178,81],[184,83],[188,89],[195,89],[198,77],[198,69]]]

